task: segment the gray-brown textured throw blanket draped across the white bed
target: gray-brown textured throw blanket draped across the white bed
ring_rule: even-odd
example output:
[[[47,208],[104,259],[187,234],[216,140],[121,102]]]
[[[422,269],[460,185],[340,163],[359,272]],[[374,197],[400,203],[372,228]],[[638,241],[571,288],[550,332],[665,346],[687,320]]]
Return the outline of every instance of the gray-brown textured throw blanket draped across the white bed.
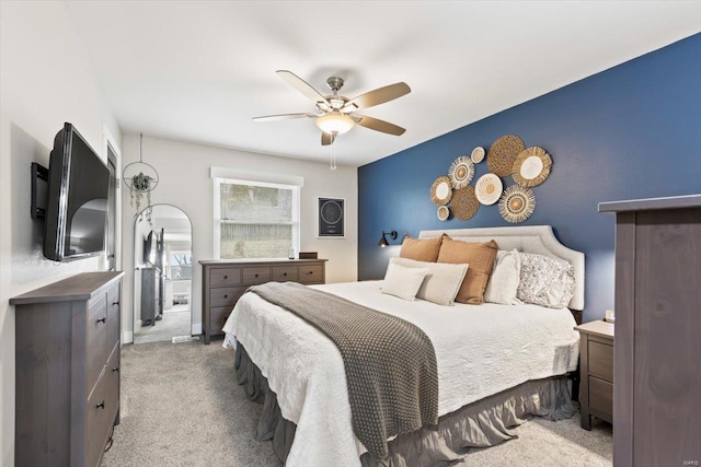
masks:
[[[388,437],[438,422],[436,352],[417,326],[298,283],[267,282],[249,291],[295,313],[336,345],[353,430],[374,457],[387,456]]]

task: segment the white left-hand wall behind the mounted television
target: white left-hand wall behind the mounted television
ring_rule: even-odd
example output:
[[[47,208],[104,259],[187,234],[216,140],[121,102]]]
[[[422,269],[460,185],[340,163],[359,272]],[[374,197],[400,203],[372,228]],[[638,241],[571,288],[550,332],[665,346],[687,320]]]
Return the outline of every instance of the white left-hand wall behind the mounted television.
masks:
[[[14,465],[14,307],[10,297],[104,269],[104,258],[54,264],[30,218],[30,164],[48,166],[54,137],[70,121],[95,151],[103,125],[120,131],[103,101],[64,2],[0,2],[0,465]],[[106,155],[102,154],[105,159]]]

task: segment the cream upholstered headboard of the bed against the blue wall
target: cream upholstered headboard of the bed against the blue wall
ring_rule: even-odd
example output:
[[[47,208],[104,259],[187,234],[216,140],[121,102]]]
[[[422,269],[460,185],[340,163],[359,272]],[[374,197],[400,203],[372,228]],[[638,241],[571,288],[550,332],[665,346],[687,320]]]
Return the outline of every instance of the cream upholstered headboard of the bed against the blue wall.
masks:
[[[561,244],[550,225],[524,225],[513,227],[452,229],[440,231],[421,231],[420,238],[440,236],[444,233],[451,238],[464,242],[496,241],[499,249],[518,249],[522,253],[561,258],[574,266],[575,291],[570,301],[571,310],[584,310],[584,253],[567,248]]]

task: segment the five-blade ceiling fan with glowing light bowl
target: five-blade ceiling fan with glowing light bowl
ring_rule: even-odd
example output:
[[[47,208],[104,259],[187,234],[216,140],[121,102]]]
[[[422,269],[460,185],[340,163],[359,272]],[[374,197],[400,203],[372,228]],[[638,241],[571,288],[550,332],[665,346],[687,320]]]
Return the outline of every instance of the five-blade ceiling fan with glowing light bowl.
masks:
[[[317,126],[322,131],[322,145],[333,144],[338,135],[345,133],[356,124],[375,131],[381,131],[383,133],[394,136],[403,135],[404,131],[406,131],[404,128],[390,124],[389,121],[355,113],[356,110],[372,107],[374,105],[384,104],[386,102],[401,97],[404,94],[409,94],[411,89],[404,82],[378,87],[374,91],[360,94],[355,98],[348,98],[338,94],[338,91],[343,87],[343,78],[329,78],[326,80],[326,84],[331,89],[332,94],[323,95],[291,71],[277,70],[276,73],[278,77],[295,86],[299,92],[312,100],[317,106],[317,112],[266,115],[263,117],[254,117],[253,119],[255,121],[314,118]]]

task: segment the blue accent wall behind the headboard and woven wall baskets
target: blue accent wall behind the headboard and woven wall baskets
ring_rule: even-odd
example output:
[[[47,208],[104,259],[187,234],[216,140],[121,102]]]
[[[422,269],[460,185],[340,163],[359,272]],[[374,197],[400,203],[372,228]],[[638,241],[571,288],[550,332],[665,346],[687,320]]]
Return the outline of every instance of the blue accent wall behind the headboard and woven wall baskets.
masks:
[[[429,197],[457,156],[509,133],[553,160],[532,188],[536,211],[517,225],[550,224],[585,253],[584,319],[600,318],[613,307],[614,215],[598,203],[701,192],[701,34],[359,167],[358,279],[383,277],[404,232],[513,225],[497,205],[441,222]],[[487,172],[485,159],[472,185]],[[377,246],[383,230],[400,233],[395,246]]]

